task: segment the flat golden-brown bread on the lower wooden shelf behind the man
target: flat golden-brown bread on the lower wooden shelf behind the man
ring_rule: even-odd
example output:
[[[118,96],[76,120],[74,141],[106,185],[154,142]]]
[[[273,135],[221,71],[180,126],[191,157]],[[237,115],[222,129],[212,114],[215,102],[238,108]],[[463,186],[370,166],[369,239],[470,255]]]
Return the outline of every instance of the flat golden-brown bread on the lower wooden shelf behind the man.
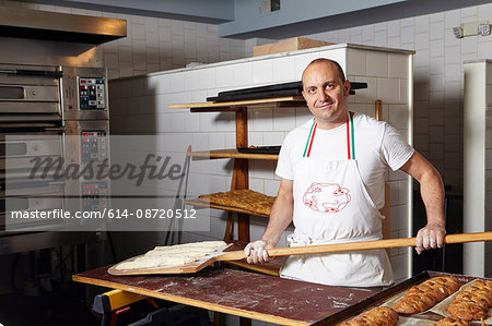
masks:
[[[276,197],[243,189],[200,195],[198,200],[210,204],[242,208],[256,214],[270,215]]]

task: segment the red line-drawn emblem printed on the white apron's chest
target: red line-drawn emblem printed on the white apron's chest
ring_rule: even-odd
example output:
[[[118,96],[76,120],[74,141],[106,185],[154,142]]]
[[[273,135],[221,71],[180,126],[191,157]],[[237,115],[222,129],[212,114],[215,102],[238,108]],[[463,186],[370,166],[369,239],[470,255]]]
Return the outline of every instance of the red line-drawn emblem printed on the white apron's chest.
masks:
[[[304,205],[320,213],[338,213],[349,202],[349,190],[337,183],[313,182],[303,196]]]

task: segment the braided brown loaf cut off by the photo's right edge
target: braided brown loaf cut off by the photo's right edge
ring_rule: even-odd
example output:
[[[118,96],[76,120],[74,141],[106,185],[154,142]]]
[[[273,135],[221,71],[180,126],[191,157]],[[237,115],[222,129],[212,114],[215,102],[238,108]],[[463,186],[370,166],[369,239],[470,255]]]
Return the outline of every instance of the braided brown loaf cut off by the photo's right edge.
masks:
[[[488,317],[492,306],[492,282],[478,279],[456,295],[447,311],[454,317],[465,321],[479,321]]]

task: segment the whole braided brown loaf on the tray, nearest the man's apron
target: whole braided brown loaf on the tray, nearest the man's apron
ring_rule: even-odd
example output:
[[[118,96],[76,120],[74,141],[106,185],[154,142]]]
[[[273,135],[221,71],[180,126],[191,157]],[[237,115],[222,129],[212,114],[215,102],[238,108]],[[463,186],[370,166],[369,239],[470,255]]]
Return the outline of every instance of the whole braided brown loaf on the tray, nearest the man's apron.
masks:
[[[433,277],[411,287],[405,295],[395,303],[395,310],[401,314],[417,314],[426,311],[444,298],[453,294],[461,287],[454,277]]]

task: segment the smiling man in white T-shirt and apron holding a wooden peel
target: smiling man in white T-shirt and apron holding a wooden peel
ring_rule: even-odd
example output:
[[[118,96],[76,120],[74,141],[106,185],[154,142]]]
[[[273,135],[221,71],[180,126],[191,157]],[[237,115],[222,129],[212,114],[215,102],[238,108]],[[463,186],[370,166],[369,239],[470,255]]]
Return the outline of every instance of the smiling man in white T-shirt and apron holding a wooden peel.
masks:
[[[441,247],[444,186],[436,169],[386,122],[350,112],[350,82],[332,60],[316,59],[302,75],[303,96],[314,118],[291,131],[279,155],[279,193],[260,240],[245,247],[248,263],[269,259],[293,221],[291,246],[371,241],[382,238],[385,171],[401,170],[420,182],[427,224],[415,250]],[[385,250],[284,259],[280,276],[332,285],[373,287],[393,282]]]

